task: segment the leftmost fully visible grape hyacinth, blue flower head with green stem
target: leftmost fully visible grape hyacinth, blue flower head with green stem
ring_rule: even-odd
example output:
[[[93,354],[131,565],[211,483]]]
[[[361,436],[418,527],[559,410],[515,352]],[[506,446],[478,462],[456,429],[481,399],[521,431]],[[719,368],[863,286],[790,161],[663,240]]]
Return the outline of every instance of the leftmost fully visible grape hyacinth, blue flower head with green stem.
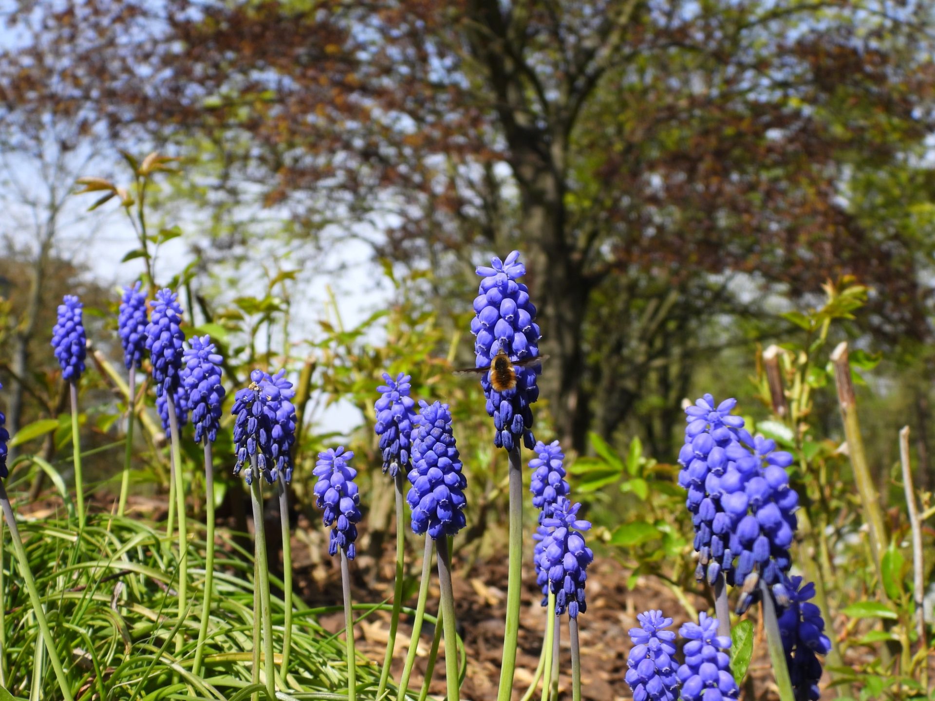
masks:
[[[58,320],[52,327],[51,346],[62,368],[62,379],[68,383],[71,398],[71,446],[75,460],[75,501],[78,520],[84,524],[84,480],[81,473],[81,446],[79,440],[78,382],[84,372],[87,355],[87,337],[81,321],[82,305],[74,294],[65,294],[58,307]]]

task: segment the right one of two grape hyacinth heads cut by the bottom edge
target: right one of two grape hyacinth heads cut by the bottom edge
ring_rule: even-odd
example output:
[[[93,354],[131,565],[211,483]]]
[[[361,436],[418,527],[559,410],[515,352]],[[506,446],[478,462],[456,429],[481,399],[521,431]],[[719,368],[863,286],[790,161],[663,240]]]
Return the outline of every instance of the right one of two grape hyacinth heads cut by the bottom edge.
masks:
[[[688,642],[683,648],[684,664],[677,677],[686,701],[724,701],[738,698],[740,687],[730,671],[730,637],[717,635],[717,619],[707,613],[697,623],[679,629]]]

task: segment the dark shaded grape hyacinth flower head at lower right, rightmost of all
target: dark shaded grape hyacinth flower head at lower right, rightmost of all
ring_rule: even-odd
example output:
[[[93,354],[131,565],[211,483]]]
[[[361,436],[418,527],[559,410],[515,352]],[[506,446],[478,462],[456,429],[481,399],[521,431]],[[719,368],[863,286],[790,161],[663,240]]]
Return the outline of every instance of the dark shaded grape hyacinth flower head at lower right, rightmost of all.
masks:
[[[818,701],[822,665],[817,655],[826,655],[831,641],[825,634],[821,609],[810,601],[815,586],[812,582],[802,585],[801,577],[793,577],[785,581],[784,588],[788,602],[780,608],[779,633],[793,692],[796,701]]]

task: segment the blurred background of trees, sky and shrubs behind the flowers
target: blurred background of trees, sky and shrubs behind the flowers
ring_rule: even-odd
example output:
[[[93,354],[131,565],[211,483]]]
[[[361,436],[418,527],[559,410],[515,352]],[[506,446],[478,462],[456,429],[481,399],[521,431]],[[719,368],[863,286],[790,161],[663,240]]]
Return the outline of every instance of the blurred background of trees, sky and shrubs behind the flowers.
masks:
[[[375,387],[382,371],[404,371],[416,397],[451,403],[467,541],[494,551],[503,460],[478,383],[451,371],[472,364],[473,267],[519,248],[551,356],[537,437],[562,440],[589,517],[634,577],[691,586],[691,566],[675,557],[690,531],[676,516],[673,464],[683,400],[712,392],[738,396],[751,425],[796,451],[813,527],[803,547],[835,609],[872,590],[869,569],[841,567],[869,563],[829,365],[842,340],[887,525],[906,527],[904,424],[930,511],[930,4],[0,8],[0,378],[13,451],[41,452],[67,475],[71,428],[47,344],[57,300],[77,292],[97,351],[82,380],[82,445],[101,449],[89,458],[96,479],[118,474],[126,397],[111,285],[143,275],[181,289],[186,333],[219,343],[228,387],[254,366],[285,367],[295,381],[297,512],[314,518],[310,465],[323,446],[348,442],[360,466],[379,464]],[[147,165],[151,151],[174,160]],[[108,197],[93,211],[94,196],[74,196],[87,177],[113,183],[84,182]],[[102,276],[74,242],[114,227],[134,229],[147,250],[127,250]],[[176,253],[160,257],[170,242]],[[367,262],[365,278],[347,278],[348,250]],[[362,321],[345,322],[350,300],[337,286],[312,301],[309,282],[322,279],[365,300]],[[784,415],[767,383],[772,344]],[[147,402],[140,504],[167,476]],[[326,426],[338,405],[351,418]],[[233,464],[223,440],[218,461]],[[364,472],[362,550],[378,555],[392,505],[379,472]],[[38,475],[19,478],[40,494]],[[233,483],[221,479],[217,498],[242,528]]]

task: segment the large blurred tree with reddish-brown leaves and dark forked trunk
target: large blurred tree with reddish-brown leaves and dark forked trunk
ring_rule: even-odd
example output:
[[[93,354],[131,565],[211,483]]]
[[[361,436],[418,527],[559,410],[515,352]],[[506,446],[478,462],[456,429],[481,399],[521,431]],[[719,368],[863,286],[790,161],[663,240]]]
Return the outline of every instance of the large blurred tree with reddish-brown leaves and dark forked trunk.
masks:
[[[852,187],[932,127],[926,5],[39,0],[7,18],[29,38],[0,99],[207,139],[225,187],[300,229],[395,215],[400,260],[520,239],[581,448],[651,377],[683,395],[699,324],[756,308],[738,279],[759,300],[853,274],[883,338],[928,336],[913,232]]]

